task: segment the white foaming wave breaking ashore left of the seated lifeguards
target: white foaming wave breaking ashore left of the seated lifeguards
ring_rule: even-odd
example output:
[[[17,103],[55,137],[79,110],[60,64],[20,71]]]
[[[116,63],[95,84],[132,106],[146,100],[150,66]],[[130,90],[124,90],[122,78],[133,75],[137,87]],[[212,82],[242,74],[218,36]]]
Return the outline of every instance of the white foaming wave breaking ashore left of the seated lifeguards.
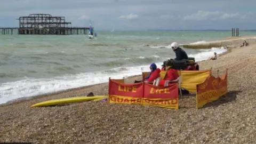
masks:
[[[53,78],[27,78],[0,84],[0,103],[33,95],[57,92],[75,87],[108,82],[111,78],[122,78],[141,74],[141,66],[118,67],[94,73],[64,75]]]

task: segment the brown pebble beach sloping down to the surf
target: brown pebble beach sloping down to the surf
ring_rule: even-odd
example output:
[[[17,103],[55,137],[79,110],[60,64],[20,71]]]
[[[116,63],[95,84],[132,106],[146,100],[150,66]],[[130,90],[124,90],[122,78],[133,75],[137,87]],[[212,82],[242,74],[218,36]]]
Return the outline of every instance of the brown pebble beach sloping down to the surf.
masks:
[[[200,69],[212,68],[214,76],[228,68],[227,95],[201,109],[193,95],[180,99],[178,110],[95,101],[30,108],[37,102],[90,92],[107,95],[108,83],[103,83],[0,105],[0,142],[254,143],[256,42],[247,42],[249,46],[229,48],[217,60],[198,62]],[[140,79],[131,76],[125,82]]]

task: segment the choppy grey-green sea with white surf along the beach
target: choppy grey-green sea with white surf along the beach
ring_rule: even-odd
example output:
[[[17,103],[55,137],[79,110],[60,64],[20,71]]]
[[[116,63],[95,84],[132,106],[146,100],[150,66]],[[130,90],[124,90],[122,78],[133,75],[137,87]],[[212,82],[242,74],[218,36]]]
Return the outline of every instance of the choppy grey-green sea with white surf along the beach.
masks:
[[[0,103],[139,75],[149,65],[175,58],[170,48],[229,37],[231,31],[97,31],[87,35],[2,35],[0,31]],[[241,31],[242,35],[253,35]],[[223,47],[186,49],[202,61],[226,52]]]

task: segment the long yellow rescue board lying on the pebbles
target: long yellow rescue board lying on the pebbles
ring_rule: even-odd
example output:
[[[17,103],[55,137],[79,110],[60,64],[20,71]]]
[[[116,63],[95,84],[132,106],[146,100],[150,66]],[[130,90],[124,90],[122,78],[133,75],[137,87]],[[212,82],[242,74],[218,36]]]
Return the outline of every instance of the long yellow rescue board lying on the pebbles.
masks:
[[[74,102],[84,102],[84,101],[90,101],[94,99],[104,99],[108,98],[106,95],[97,95],[93,97],[71,97],[71,98],[62,98],[62,99],[55,99],[55,100],[48,100],[44,102],[36,103],[35,105],[30,106],[32,107],[45,107],[45,106],[55,106],[55,105],[63,105],[66,103],[74,103]]]

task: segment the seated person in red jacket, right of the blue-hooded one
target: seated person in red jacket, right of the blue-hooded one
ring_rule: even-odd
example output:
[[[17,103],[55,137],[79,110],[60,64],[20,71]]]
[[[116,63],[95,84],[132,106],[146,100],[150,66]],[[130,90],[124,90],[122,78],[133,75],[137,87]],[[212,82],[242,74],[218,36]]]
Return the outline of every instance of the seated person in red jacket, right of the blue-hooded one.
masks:
[[[166,62],[165,78],[160,80],[159,86],[164,86],[166,81],[174,81],[175,79],[177,79],[179,77],[177,69],[172,68],[172,66],[173,66],[173,61],[172,60],[168,60]]]

